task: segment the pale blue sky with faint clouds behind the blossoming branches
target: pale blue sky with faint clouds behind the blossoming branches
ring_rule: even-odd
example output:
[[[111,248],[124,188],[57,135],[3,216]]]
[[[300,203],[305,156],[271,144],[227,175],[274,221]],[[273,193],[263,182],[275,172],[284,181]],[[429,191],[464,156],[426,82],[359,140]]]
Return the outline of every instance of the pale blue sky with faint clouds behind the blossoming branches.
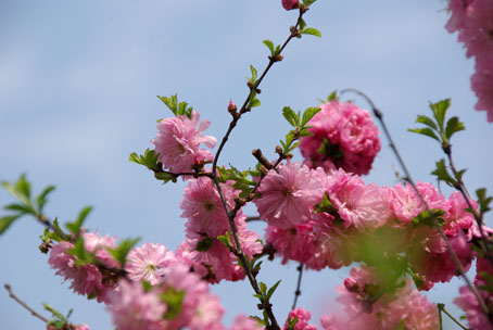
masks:
[[[467,167],[470,190],[493,190],[493,127],[473,110],[469,87],[473,62],[443,28],[445,1],[319,0],[306,15],[323,38],[303,37],[288,46],[262,86],[262,106],[233,131],[222,164],[249,167],[251,150],[274,156],[289,130],[281,109],[319,104],[336,89],[358,88],[384,112],[414,177],[429,173],[441,157],[431,139],[407,132],[428,102],[452,98],[451,115],[466,132],[453,140],[459,168]],[[0,2],[0,179],[27,173],[35,189],[54,183],[47,213],[73,219],[85,205],[94,210],[90,229],[117,237],[140,236],[175,249],[184,239],[179,217],[182,183],[162,186],[128,155],[150,148],[156,119],[170,112],[156,96],[178,93],[202,118],[207,135],[226,131],[229,99],[246,96],[249,65],[266,63],[262,40],[280,43],[295,21],[277,0],[250,1],[1,1]],[[367,106],[356,100],[361,106]],[[394,185],[396,161],[382,138],[382,151],[366,182]],[[445,195],[450,191],[443,190]],[[0,204],[12,199],[0,191]],[[253,208],[250,208],[253,213]],[[492,226],[491,215],[486,221]],[[252,227],[262,232],[262,225]],[[9,282],[33,307],[48,302],[91,329],[111,329],[103,305],[74,295],[38,252],[42,228],[33,219],[14,224],[0,237],[0,283]],[[282,319],[292,302],[296,265],[264,263],[262,280],[282,284],[274,301]],[[334,285],[347,269],[306,272],[300,305],[318,318],[330,312]],[[459,280],[438,285],[430,299],[457,315],[452,299]],[[444,290],[443,290],[444,289]],[[238,313],[255,314],[246,283],[213,287],[227,308],[226,322]],[[232,294],[233,292],[233,294]],[[0,292],[2,328],[41,329],[42,325]],[[448,325],[447,329],[453,329]]]

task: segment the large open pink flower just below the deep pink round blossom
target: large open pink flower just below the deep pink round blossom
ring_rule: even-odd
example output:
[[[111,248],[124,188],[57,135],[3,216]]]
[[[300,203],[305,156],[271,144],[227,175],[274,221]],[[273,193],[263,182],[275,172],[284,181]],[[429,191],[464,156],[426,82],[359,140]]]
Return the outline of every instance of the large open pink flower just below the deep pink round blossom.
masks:
[[[307,223],[324,196],[320,175],[290,161],[278,172],[270,169],[258,188],[262,196],[254,200],[261,218],[283,229]]]

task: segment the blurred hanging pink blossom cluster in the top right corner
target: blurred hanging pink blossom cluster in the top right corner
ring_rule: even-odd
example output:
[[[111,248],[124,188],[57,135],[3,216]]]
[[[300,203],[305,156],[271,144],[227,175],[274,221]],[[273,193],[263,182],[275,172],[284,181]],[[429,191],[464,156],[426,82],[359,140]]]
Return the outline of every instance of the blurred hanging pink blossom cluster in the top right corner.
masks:
[[[493,1],[450,0],[452,13],[445,28],[458,31],[458,40],[467,48],[466,55],[476,59],[471,87],[478,97],[476,110],[488,112],[493,122]]]

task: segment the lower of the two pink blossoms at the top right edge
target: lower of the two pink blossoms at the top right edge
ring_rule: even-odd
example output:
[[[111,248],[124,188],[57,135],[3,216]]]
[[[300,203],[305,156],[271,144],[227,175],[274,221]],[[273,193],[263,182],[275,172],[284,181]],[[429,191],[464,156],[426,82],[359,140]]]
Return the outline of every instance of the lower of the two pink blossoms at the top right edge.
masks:
[[[493,29],[491,35],[493,43]],[[488,122],[493,123],[493,46],[488,55],[476,59],[476,73],[471,76],[471,87],[478,97],[475,109],[486,111]]]

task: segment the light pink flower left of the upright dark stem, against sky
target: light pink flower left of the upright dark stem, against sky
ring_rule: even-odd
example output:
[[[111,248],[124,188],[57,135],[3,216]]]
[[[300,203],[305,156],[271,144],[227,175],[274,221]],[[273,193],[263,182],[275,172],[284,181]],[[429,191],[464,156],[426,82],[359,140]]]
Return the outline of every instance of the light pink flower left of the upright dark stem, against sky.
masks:
[[[201,143],[208,148],[216,145],[216,138],[202,136],[200,132],[210,126],[208,120],[199,125],[200,114],[193,111],[191,118],[179,115],[165,118],[157,124],[157,136],[151,142],[155,144],[155,151],[160,154],[159,160],[164,167],[174,172],[191,172],[193,165],[201,165],[212,161],[210,151],[199,149]],[[199,125],[199,128],[197,126]]]

